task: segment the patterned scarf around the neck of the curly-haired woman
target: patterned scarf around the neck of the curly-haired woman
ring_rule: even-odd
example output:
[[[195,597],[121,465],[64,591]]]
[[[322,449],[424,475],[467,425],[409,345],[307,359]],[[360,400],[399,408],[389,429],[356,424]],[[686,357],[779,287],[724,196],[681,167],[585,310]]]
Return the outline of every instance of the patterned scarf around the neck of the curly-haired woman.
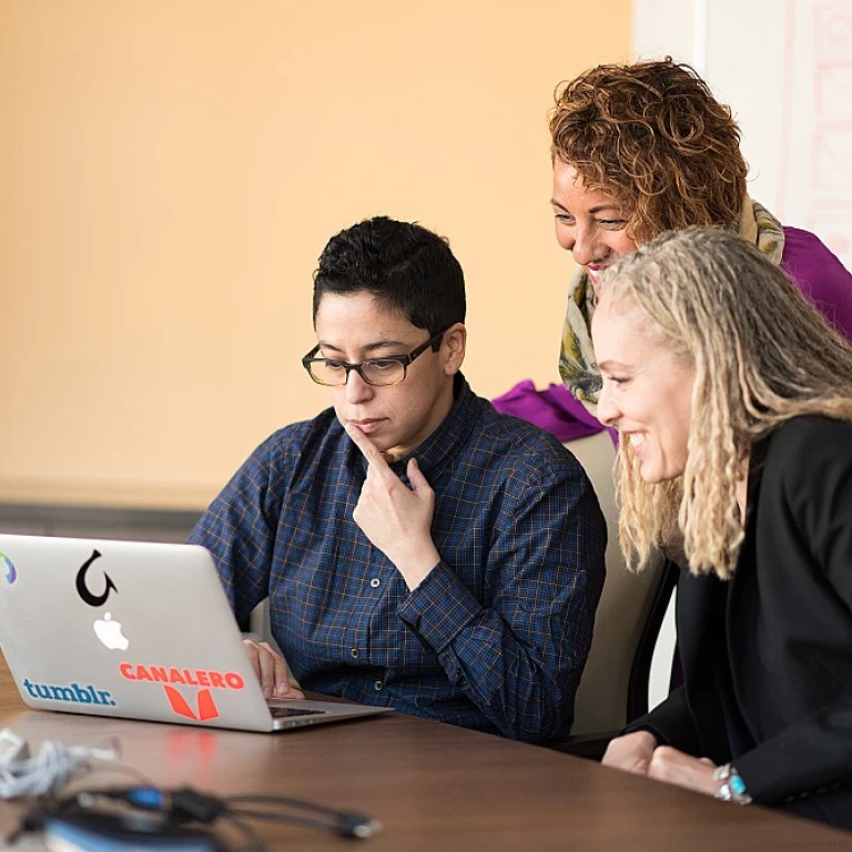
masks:
[[[761,254],[772,263],[781,263],[784,251],[781,223],[762,204],[748,196],[742,204],[739,233],[743,240],[757,245]],[[578,266],[568,285],[568,308],[559,353],[559,375],[568,390],[591,414],[595,414],[598,407],[601,386],[589,335],[597,301],[589,276],[582,266]]]

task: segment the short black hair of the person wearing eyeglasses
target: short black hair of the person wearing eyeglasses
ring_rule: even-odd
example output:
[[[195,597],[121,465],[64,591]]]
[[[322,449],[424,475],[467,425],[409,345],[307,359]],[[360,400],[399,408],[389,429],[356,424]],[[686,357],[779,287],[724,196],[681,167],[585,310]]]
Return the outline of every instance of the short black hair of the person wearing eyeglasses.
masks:
[[[358,222],[328,241],[314,273],[314,323],[326,293],[369,293],[430,335],[465,322],[465,275],[447,240],[387,216]]]

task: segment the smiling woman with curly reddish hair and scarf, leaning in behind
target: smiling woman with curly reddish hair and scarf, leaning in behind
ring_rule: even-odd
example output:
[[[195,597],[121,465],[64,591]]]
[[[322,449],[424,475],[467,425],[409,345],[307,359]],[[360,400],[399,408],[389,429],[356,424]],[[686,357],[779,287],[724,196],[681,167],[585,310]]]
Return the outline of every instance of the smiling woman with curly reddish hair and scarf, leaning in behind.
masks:
[[[578,264],[559,372],[592,413],[600,387],[589,338],[596,281],[663,231],[738,233],[852,339],[852,275],[818,237],[782,227],[748,196],[731,110],[691,68],[667,58],[586,71],[557,91],[550,134],[556,236]]]

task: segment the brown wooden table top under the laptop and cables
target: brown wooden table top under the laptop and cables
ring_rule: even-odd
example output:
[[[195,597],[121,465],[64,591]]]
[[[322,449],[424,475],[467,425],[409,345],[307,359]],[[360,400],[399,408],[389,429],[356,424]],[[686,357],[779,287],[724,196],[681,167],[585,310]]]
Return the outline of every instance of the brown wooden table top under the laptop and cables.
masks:
[[[115,737],[125,763],[166,787],[280,793],[366,812],[384,829],[358,845],[364,852],[852,850],[850,833],[403,714],[261,734],[27,710],[2,657],[0,727],[31,748]],[[0,803],[0,836],[18,814]],[[254,824],[268,849],[355,849],[324,832]]]

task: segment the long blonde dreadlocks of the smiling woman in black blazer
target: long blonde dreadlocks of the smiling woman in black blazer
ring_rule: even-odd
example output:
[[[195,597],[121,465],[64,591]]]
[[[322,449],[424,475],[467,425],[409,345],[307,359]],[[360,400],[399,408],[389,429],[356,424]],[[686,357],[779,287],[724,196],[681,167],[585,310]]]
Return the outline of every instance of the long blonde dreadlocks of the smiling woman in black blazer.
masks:
[[[744,519],[737,483],[752,446],[785,420],[852,422],[852,347],[752,245],[721,230],[661,234],[601,280],[612,310],[638,308],[646,333],[694,364],[682,476],[650,485],[622,438],[619,537],[628,565],[680,530],[693,574],[731,576]]]

